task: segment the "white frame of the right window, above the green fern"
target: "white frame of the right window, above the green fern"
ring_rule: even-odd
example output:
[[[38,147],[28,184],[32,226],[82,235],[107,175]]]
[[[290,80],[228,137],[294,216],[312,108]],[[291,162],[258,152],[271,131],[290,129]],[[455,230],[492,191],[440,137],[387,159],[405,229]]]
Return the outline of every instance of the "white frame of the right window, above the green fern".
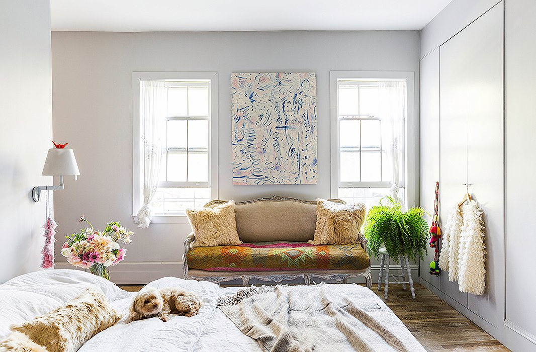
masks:
[[[415,205],[416,173],[416,141],[415,141],[415,83],[413,71],[330,71],[330,103],[331,103],[331,197],[338,198],[339,187],[358,186],[359,188],[386,188],[390,182],[343,182],[339,183],[339,81],[385,81],[405,80],[407,89],[407,120],[404,124],[403,143],[403,177],[400,184],[406,189],[408,206]],[[413,172],[408,172],[413,170]],[[387,185],[389,183],[389,185]]]

